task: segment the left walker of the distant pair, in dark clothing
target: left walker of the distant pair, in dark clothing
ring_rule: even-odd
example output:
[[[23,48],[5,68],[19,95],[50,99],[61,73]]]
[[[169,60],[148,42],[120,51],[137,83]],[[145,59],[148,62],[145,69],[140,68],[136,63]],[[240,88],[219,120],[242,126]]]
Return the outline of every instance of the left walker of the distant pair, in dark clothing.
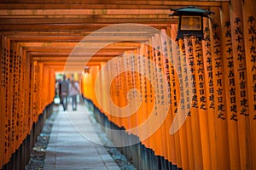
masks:
[[[61,104],[63,105],[64,111],[67,111],[68,86],[69,86],[69,83],[66,80],[66,75],[63,75],[63,80],[59,84],[59,95],[60,95]]]

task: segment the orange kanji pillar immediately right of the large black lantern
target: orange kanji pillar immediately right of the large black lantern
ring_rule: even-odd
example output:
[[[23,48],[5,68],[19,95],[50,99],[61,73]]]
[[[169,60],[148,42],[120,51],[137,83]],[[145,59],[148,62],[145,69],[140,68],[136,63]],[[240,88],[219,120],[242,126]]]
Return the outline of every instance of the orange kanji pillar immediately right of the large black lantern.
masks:
[[[211,166],[212,169],[217,169],[217,144],[216,144],[216,127],[215,127],[215,107],[214,107],[214,88],[212,75],[212,48],[209,22],[204,20],[204,38],[202,40],[202,54],[204,65],[205,78],[205,94],[207,96],[207,116],[208,116],[208,132],[210,142]]]

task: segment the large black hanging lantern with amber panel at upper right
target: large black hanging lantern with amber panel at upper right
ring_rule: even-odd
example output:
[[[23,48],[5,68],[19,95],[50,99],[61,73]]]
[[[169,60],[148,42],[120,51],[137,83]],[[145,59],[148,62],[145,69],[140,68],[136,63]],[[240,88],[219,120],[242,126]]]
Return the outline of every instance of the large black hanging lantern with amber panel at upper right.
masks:
[[[203,37],[203,17],[208,17],[209,14],[214,14],[209,10],[202,8],[195,8],[189,6],[186,8],[172,8],[174,11],[169,16],[178,16],[178,30],[177,38],[181,37],[198,37],[202,39]]]

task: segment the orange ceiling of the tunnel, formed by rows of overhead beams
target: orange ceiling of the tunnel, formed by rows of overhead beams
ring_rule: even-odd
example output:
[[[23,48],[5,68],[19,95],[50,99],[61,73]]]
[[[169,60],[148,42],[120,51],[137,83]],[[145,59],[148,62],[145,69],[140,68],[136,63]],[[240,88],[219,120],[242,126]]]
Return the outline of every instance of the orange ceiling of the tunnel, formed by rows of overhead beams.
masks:
[[[224,2],[230,0],[1,0],[0,33],[46,66],[61,70],[68,60],[76,69],[84,65],[81,59],[100,65],[177,24],[170,8],[208,9]]]

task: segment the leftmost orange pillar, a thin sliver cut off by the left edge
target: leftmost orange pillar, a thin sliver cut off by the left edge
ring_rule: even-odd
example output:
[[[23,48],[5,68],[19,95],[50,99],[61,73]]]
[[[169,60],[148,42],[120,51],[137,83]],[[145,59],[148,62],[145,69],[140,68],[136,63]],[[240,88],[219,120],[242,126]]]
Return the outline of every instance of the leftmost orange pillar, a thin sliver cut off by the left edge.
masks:
[[[5,80],[4,80],[4,77],[5,77],[5,65],[4,65],[4,62],[5,62],[5,56],[4,56],[4,39],[3,39],[3,34],[0,34],[0,69],[1,69],[1,76],[0,76],[0,168],[3,167],[3,146],[4,146],[4,143],[3,143],[3,139],[4,139],[4,109],[5,109]]]

